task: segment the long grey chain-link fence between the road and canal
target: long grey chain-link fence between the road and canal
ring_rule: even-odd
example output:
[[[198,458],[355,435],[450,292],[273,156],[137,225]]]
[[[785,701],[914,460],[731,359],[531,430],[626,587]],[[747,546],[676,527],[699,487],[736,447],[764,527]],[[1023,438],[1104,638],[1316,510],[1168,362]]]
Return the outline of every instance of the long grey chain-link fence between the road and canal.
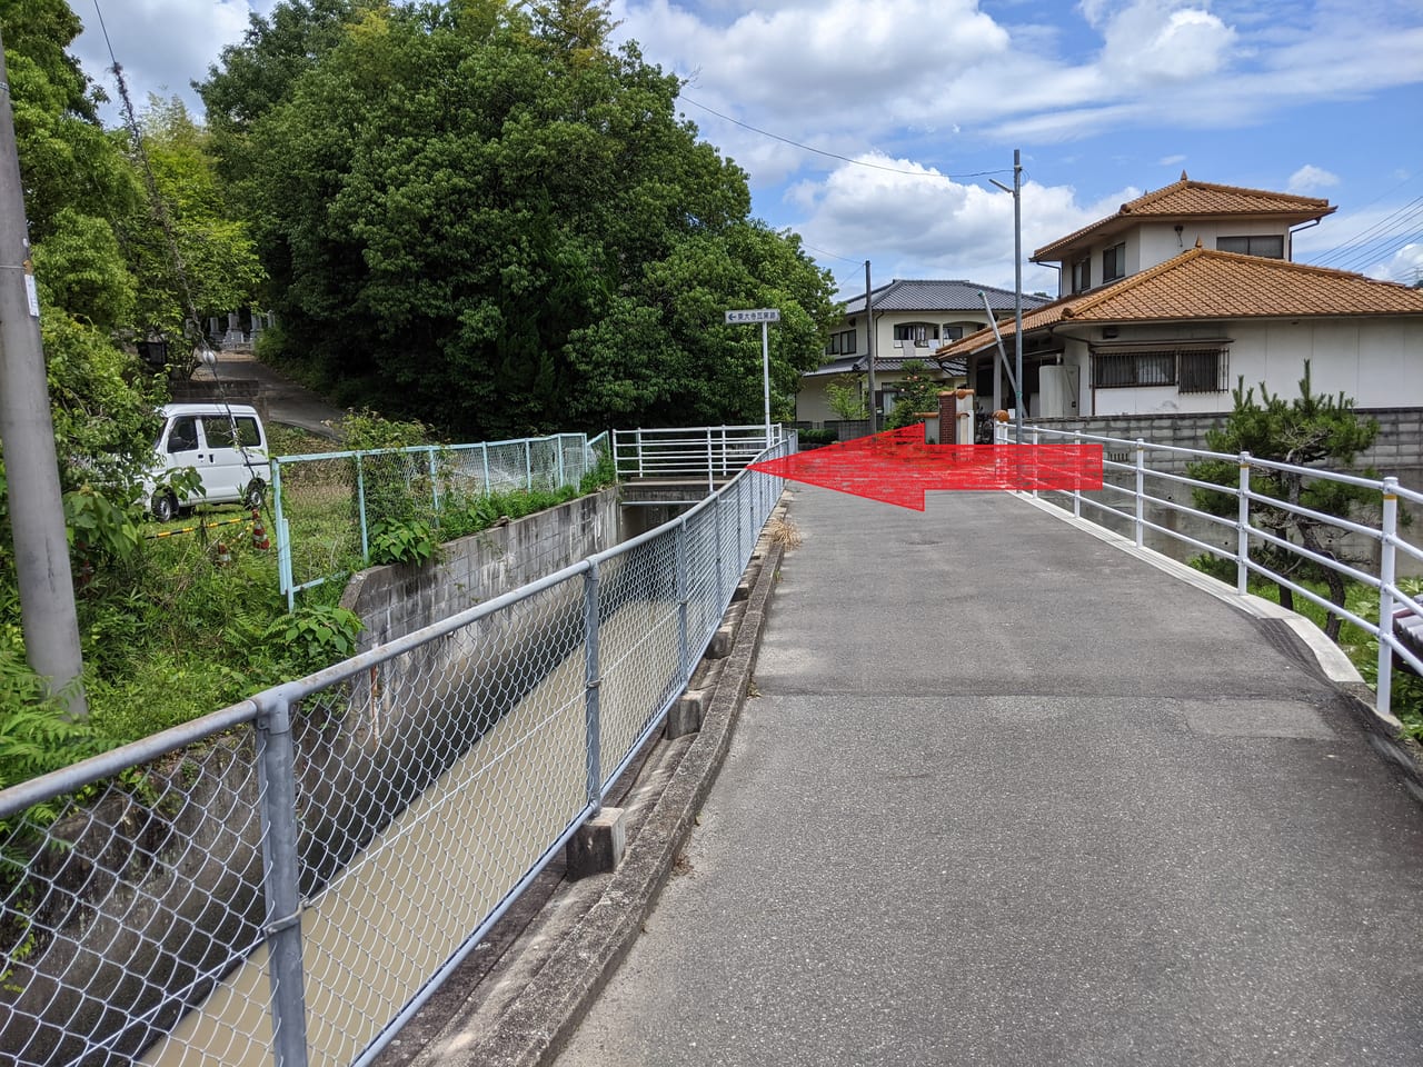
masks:
[[[609,552],[0,792],[0,1061],[374,1060],[659,728],[780,489],[744,471]]]

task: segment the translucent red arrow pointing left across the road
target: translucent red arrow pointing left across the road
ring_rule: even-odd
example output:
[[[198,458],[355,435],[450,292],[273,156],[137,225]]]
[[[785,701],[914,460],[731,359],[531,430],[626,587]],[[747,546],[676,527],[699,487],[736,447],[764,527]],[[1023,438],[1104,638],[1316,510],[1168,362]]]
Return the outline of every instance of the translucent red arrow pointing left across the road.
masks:
[[[1101,445],[931,445],[918,423],[751,469],[924,511],[933,489],[1100,489]]]

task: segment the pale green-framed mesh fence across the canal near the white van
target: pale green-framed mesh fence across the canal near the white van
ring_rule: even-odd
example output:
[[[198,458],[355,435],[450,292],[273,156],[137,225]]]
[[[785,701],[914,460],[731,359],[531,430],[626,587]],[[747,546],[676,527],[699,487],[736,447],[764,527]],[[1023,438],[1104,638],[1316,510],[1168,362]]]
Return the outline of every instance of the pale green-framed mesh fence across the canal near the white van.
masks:
[[[383,529],[438,524],[441,512],[504,492],[578,487],[609,454],[608,434],[555,434],[272,461],[277,572],[295,593],[366,566]]]

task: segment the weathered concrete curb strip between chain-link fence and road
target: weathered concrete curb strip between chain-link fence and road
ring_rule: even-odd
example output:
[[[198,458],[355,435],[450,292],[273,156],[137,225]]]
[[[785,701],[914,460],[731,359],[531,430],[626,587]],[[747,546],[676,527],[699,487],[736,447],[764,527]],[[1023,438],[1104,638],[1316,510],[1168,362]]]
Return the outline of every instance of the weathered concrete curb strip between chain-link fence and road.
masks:
[[[535,1067],[562,1049],[618,969],[682,854],[730,747],[784,545],[771,514],[692,684],[608,798],[625,812],[612,874],[549,865],[377,1060],[380,1067]]]

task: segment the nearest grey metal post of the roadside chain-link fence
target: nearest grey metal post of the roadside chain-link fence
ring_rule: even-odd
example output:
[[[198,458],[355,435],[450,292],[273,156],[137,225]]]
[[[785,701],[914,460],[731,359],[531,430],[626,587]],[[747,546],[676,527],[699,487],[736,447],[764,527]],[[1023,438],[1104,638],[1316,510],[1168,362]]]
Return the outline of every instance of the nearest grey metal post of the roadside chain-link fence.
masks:
[[[285,687],[283,687],[285,689]],[[297,864],[296,754],[292,701],[282,690],[256,697],[262,807],[262,888],[266,896],[272,1051],[277,1067],[306,1067],[306,989]]]

